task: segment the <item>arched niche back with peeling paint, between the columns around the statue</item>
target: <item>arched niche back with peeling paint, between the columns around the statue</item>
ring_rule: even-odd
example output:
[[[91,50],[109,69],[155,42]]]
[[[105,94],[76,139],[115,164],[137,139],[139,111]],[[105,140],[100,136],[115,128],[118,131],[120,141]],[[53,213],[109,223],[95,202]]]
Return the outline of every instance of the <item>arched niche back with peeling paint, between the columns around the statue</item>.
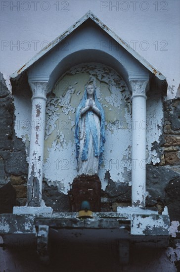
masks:
[[[44,178],[65,194],[78,173],[75,112],[88,82],[96,85],[105,112],[106,142],[98,174],[102,189],[107,185],[107,172],[114,182],[130,182],[131,94],[114,69],[85,63],[74,66],[57,81],[46,104]]]

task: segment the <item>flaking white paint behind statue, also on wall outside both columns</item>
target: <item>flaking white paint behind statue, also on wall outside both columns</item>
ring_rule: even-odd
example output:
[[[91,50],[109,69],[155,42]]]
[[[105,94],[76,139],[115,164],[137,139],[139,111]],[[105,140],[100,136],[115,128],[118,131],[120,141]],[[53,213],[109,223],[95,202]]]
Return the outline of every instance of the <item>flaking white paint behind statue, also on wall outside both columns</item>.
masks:
[[[99,171],[102,188],[107,181],[105,173],[109,171],[115,182],[129,182],[126,171],[131,171],[132,128],[135,122],[131,119],[130,91],[114,70],[104,65],[84,64],[72,68],[61,77],[54,87],[54,95],[48,96],[45,122],[45,157],[44,174],[49,185],[57,185],[58,190],[67,193],[69,183],[77,175],[75,159],[74,125],[75,113],[82,95],[83,88],[91,79],[97,83],[97,97],[102,103],[106,115],[106,142],[104,164]],[[81,83],[82,82],[82,83]],[[66,95],[66,92],[68,94]],[[30,126],[31,124],[30,96],[15,96],[15,131],[26,144],[27,161],[29,162]],[[68,115],[64,111],[69,105]],[[151,151],[152,143],[159,142],[163,110],[159,96],[147,100],[146,126],[146,160],[157,162],[156,154]],[[156,118],[155,118],[156,117]],[[22,124],[22,125],[21,125]],[[142,123],[142,126],[144,123]],[[44,127],[44,126],[43,126]],[[144,128],[144,127],[143,127]],[[157,133],[158,132],[158,133]],[[115,148],[114,144],[118,148]],[[135,158],[136,159],[136,158]]]

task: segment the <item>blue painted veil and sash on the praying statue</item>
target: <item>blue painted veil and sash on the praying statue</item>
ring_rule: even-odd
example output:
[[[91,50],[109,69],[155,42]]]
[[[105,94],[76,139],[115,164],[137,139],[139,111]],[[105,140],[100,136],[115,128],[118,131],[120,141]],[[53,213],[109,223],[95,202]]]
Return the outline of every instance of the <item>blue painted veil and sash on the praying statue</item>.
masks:
[[[79,120],[81,119],[81,109],[85,107],[87,99],[88,99],[88,93],[87,93],[87,88],[85,88],[83,98],[82,98],[81,102],[79,103],[79,105],[77,107],[77,111],[76,111],[75,142],[76,142],[76,159],[77,160],[78,160],[79,151],[80,151]],[[96,127],[94,126],[93,122],[90,122],[93,112],[89,110],[86,113],[86,139],[85,139],[85,144],[84,144],[81,159],[82,159],[82,161],[86,161],[88,159],[88,151],[89,151],[88,149],[89,149],[90,132],[91,132],[93,147],[94,147],[94,156],[95,157],[99,156],[99,166],[100,166],[102,163],[102,154],[104,151],[104,142],[105,142],[105,116],[104,116],[104,110],[102,108],[102,105],[99,103],[99,101],[97,99],[95,87],[94,87],[94,101],[95,101],[95,105],[99,109],[99,113],[100,113],[100,145],[99,146],[97,145],[98,140],[97,140]]]

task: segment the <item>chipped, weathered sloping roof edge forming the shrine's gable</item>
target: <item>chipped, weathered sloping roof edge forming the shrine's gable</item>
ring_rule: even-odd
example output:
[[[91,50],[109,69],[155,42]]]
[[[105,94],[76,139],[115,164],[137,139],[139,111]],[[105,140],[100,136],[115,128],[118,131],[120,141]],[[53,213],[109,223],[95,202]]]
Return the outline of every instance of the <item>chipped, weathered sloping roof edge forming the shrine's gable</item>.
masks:
[[[102,30],[104,30],[109,36],[111,36],[119,45],[124,47],[136,60],[138,60],[145,68],[147,68],[151,73],[153,73],[158,79],[165,80],[166,77],[159,72],[155,67],[153,67],[147,60],[140,56],[130,45],[123,41],[116,33],[109,29],[102,21],[100,21],[91,11],[88,11],[81,19],[79,19],[75,24],[68,28],[64,33],[58,36],[54,41],[46,45],[41,51],[39,51],[33,58],[31,58],[26,64],[24,64],[20,69],[14,72],[10,77],[15,79],[19,77],[25,70],[27,70],[31,65],[42,58],[47,52],[49,52],[55,45],[61,43],[68,35],[75,31],[80,25],[85,21],[91,19],[95,22]]]

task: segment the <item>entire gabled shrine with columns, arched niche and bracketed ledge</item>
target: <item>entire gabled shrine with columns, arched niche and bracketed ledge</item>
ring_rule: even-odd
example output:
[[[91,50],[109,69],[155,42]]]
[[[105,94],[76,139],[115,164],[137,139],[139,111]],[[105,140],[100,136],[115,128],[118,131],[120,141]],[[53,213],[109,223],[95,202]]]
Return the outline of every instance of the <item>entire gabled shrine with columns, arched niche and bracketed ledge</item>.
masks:
[[[99,46],[101,41],[113,45],[112,48]],[[64,42],[68,43],[68,50],[63,50]],[[89,236],[91,241],[92,232],[95,242],[98,238],[114,241],[121,264],[129,262],[132,242],[138,247],[167,246],[170,229],[167,209],[162,215],[157,210],[147,209],[148,206],[159,205],[159,199],[167,199],[163,196],[165,191],[159,190],[163,188],[159,185],[162,181],[159,173],[169,173],[169,168],[152,166],[160,163],[162,155],[162,98],[167,91],[165,76],[89,11],[17,70],[11,76],[11,83],[16,101],[15,132],[26,143],[29,163],[27,204],[13,207],[13,214],[2,218],[1,225],[6,226],[2,228],[2,234],[16,236],[18,233],[18,237],[19,234],[27,234],[27,241],[33,234],[40,258],[46,263],[48,254],[53,256],[48,247],[48,239],[52,238],[49,235],[51,228],[55,230],[54,241],[59,245],[62,237],[85,241],[81,234],[87,234],[85,236]],[[88,86],[80,104],[87,84],[96,86],[96,95],[90,95]],[[91,89],[94,91],[92,86]],[[82,119],[78,105],[82,108]],[[89,112],[84,115],[86,107]],[[98,138],[100,123],[100,118],[97,120],[92,116],[93,112],[99,113],[101,120],[104,120],[102,112],[105,112],[106,142],[98,176],[87,175],[87,179],[86,175],[77,177],[76,144],[78,146],[82,140],[80,145],[85,142],[85,152],[89,147],[92,151],[92,133],[97,132],[93,136]],[[76,131],[76,143],[75,116],[76,125],[82,125],[82,130]],[[26,120],[29,128],[25,126]],[[97,130],[92,124],[98,125]],[[104,126],[100,131],[103,131],[100,136],[104,136]],[[98,157],[95,143],[94,136],[95,152],[91,152],[94,155],[90,157],[91,162],[91,158]],[[84,158],[81,156],[81,161]],[[163,177],[164,184],[168,183],[165,174]],[[43,180],[47,184],[43,184]],[[90,186],[85,187],[85,184]],[[131,199],[132,206],[127,207]],[[69,200],[72,213],[67,213]],[[94,206],[91,205],[93,203]],[[54,213],[52,207],[58,213]],[[79,218],[74,212],[79,212]],[[87,215],[93,219],[86,220]],[[80,220],[82,216],[85,221]],[[70,228],[71,237],[68,237],[66,234]],[[80,232],[78,236],[77,231]],[[57,255],[59,257],[59,253]]]

